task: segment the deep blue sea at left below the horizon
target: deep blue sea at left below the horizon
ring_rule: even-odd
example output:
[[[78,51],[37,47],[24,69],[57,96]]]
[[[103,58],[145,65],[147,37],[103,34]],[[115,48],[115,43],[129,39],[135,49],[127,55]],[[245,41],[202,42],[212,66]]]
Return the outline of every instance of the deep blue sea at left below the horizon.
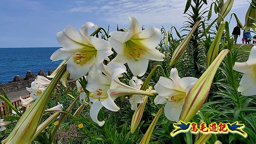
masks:
[[[44,72],[56,69],[61,63],[50,60],[50,56],[59,47],[33,47],[33,48],[0,48],[0,83],[12,81],[15,75],[26,76],[31,70],[38,74],[40,69]]]

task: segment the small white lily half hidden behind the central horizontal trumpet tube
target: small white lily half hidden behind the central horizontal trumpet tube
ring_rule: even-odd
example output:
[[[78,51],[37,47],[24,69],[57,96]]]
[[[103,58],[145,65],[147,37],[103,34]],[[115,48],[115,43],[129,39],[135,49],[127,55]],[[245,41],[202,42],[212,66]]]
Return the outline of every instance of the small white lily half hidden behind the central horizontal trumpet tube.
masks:
[[[132,79],[129,81],[129,85],[133,88],[140,89],[143,84],[143,81],[138,79],[137,77],[132,77]],[[137,104],[143,103],[144,95],[132,95],[129,99],[129,102],[131,104],[131,109],[136,110]]]

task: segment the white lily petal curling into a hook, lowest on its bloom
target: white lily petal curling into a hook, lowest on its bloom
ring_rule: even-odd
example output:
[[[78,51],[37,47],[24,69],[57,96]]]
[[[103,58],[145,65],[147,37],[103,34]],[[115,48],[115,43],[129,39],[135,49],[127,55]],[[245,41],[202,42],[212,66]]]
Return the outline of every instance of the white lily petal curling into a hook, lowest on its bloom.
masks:
[[[90,108],[90,117],[92,118],[92,120],[94,122],[96,122],[97,124],[99,124],[100,127],[102,127],[105,123],[105,121],[99,121],[98,120],[98,114],[99,114],[99,110],[102,108],[102,103],[99,101],[96,101],[92,104],[91,108]]]

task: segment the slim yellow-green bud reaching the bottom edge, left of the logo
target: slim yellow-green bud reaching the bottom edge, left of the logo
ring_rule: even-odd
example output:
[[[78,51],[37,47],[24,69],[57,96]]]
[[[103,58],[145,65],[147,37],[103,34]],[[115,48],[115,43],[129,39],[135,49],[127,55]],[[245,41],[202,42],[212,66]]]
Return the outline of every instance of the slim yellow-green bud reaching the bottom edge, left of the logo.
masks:
[[[151,122],[150,126],[148,127],[148,130],[146,131],[145,135],[141,139],[140,144],[149,144],[154,127],[156,126],[157,120],[159,119],[162,112],[163,112],[163,108],[158,110],[157,115],[154,117],[153,121]]]

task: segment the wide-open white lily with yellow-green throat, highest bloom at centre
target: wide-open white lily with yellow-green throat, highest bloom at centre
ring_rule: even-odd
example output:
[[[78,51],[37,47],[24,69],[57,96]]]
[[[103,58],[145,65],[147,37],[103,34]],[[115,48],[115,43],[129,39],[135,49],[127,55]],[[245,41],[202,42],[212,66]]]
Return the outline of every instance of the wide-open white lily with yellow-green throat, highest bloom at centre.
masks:
[[[129,17],[128,32],[111,32],[108,39],[117,52],[113,62],[128,63],[134,76],[143,76],[148,67],[148,60],[163,61],[164,54],[155,49],[161,40],[160,29],[152,26],[141,30],[135,17]]]

